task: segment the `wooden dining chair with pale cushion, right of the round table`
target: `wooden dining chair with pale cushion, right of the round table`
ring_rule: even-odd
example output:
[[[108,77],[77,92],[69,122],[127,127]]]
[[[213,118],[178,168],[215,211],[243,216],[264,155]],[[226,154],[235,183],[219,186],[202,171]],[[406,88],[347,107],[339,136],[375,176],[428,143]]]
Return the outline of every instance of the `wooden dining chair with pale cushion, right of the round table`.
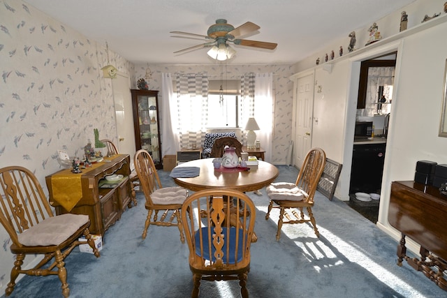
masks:
[[[316,228],[316,221],[314,214],[312,213],[312,207],[314,207],[314,195],[323,173],[326,163],[326,154],[321,148],[311,149],[302,163],[300,173],[295,183],[291,182],[274,182],[266,188],[267,195],[270,198],[270,204],[268,205],[268,211],[265,215],[265,219],[270,217],[270,211],[272,208],[279,208],[279,220],[278,220],[278,232],[277,241],[281,237],[281,228],[283,223],[306,223],[310,222],[314,226],[314,232],[317,237],[320,236],[320,232]],[[309,214],[308,218],[305,218],[303,208],[307,209]],[[292,218],[286,212],[286,209],[292,209],[291,213],[295,218]],[[300,209],[298,214],[295,209]],[[284,221],[284,216],[286,221]]]

